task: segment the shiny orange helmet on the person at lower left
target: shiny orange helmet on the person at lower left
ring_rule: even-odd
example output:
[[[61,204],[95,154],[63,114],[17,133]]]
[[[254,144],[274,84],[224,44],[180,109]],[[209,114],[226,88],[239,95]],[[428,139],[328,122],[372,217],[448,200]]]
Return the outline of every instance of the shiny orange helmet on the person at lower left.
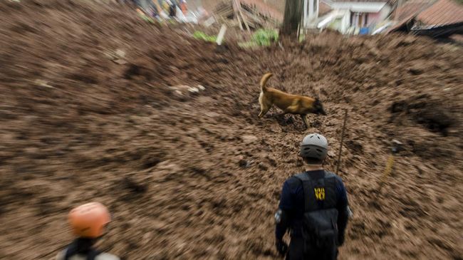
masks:
[[[71,210],[68,220],[73,234],[94,239],[103,234],[103,228],[111,221],[111,217],[103,204],[90,202]]]

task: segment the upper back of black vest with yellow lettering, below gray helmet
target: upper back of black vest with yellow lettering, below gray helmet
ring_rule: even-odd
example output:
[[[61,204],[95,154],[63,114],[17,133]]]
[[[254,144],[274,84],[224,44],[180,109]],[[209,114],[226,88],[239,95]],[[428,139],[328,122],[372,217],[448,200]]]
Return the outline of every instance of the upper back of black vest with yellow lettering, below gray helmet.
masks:
[[[294,177],[301,180],[304,194],[304,212],[336,207],[336,180],[333,172],[325,171],[323,177],[311,178],[307,172]]]

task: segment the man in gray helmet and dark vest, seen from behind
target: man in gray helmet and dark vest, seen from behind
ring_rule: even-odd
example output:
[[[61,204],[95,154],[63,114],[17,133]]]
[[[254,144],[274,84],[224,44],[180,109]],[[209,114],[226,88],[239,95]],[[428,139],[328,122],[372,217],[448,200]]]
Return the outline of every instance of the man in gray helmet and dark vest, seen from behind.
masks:
[[[323,170],[328,141],[318,134],[301,142],[306,172],[283,184],[279,209],[275,214],[276,248],[286,259],[336,259],[344,242],[348,222],[348,198],[343,181]],[[289,248],[283,241],[290,232]]]

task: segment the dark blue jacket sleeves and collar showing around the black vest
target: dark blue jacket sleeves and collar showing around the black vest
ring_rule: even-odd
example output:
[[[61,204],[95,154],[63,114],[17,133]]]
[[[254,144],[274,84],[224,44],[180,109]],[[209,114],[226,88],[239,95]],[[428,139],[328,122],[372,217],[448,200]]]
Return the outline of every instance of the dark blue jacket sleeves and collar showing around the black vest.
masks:
[[[308,175],[313,178],[323,177],[323,170],[309,171]],[[348,198],[343,180],[336,175],[336,209],[338,209],[338,232],[343,239],[345,226],[348,222]],[[286,222],[276,225],[276,239],[282,239],[288,229],[291,229],[291,236],[301,236],[304,199],[301,180],[296,177],[289,177],[283,184],[281,191],[279,209],[286,214]]]

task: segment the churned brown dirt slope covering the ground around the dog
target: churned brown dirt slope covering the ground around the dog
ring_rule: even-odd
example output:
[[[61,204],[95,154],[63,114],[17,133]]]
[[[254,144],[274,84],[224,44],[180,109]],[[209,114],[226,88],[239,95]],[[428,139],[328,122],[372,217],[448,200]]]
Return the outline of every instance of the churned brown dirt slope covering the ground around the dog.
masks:
[[[321,132],[355,217],[340,259],[462,259],[463,51],[412,36],[313,36],[241,50],[77,1],[0,4],[0,259],[52,259],[66,214],[113,213],[125,259],[275,259],[281,184]],[[126,64],[108,53],[125,51]],[[318,95],[326,117],[259,119],[258,82]],[[203,85],[177,95],[171,85]],[[390,140],[405,144],[378,188]]]

